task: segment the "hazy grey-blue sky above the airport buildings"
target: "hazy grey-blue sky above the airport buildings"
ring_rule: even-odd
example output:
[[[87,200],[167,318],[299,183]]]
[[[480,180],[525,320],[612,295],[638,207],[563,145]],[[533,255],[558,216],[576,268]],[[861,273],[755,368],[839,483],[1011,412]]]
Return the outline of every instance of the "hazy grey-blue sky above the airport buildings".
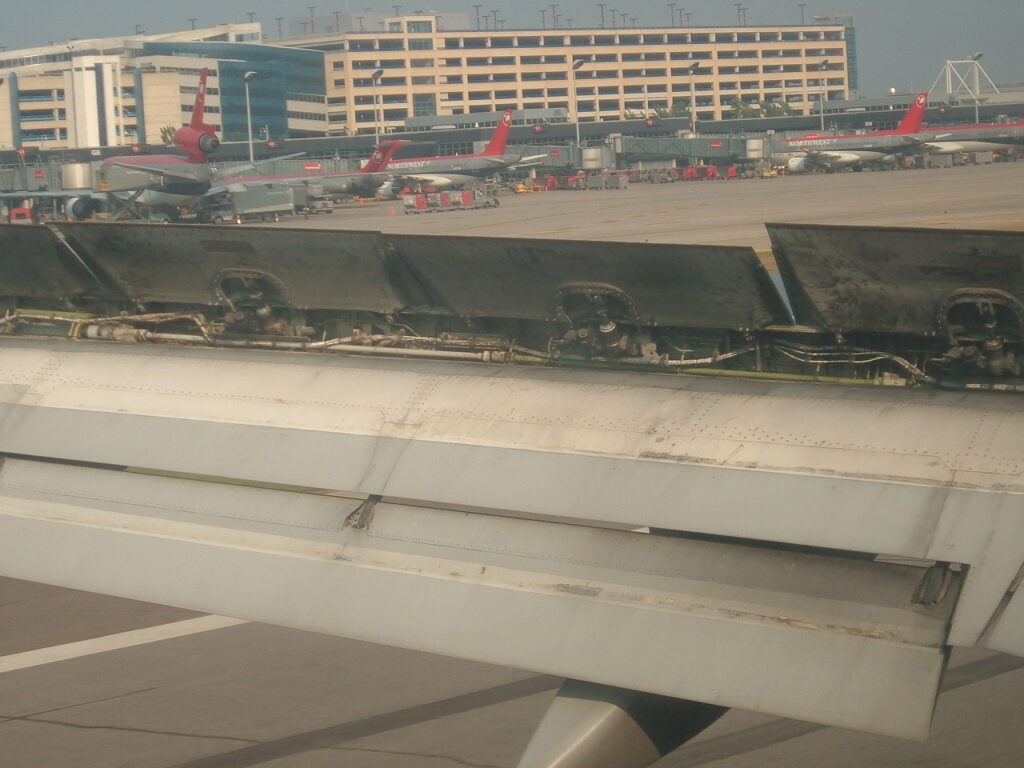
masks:
[[[464,12],[475,17],[471,2],[423,0],[401,5],[402,12],[435,9]],[[319,4],[323,3],[323,4]],[[0,46],[26,48],[63,42],[73,37],[132,35],[136,25],[148,34],[189,29],[225,22],[247,22],[249,12],[263,25],[265,35],[278,28],[276,16],[332,18],[333,11],[393,13],[398,0],[0,0]],[[408,3],[408,0],[407,0]],[[399,3],[400,4],[400,3]],[[729,0],[677,0],[691,14],[694,26],[736,23],[736,8]],[[748,25],[797,24],[800,4],[793,0],[745,0]],[[502,7],[505,6],[505,7]],[[638,26],[669,26],[671,11],[662,0],[609,0],[607,6],[637,17]],[[806,19],[815,13],[851,13],[857,28],[860,91],[877,96],[896,88],[915,92],[931,87],[946,59],[959,59],[981,51],[981,62],[998,85],[1024,85],[1024,0],[807,0]],[[14,9],[17,11],[14,12]],[[506,29],[536,29],[542,8],[550,6],[522,0],[492,0],[483,12],[499,9]],[[572,18],[573,28],[599,27],[600,10],[591,0],[561,0],[557,12]],[[678,20],[678,18],[677,18]],[[287,24],[287,22],[286,22]],[[475,22],[474,22],[475,25]]]

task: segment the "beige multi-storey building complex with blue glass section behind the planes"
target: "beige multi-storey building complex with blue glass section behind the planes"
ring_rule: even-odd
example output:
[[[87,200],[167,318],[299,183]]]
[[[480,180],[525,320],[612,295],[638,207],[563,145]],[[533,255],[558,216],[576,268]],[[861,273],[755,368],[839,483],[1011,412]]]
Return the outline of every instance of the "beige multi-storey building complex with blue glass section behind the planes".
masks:
[[[852,19],[779,27],[466,29],[466,14],[335,14],[0,52],[0,148],[160,144],[210,70],[225,140],[373,134],[414,118],[564,110],[570,122],[737,104],[809,114],[856,91]],[[574,97],[572,97],[574,95]],[[377,109],[375,110],[375,103]],[[459,122],[463,122],[464,118]]]

